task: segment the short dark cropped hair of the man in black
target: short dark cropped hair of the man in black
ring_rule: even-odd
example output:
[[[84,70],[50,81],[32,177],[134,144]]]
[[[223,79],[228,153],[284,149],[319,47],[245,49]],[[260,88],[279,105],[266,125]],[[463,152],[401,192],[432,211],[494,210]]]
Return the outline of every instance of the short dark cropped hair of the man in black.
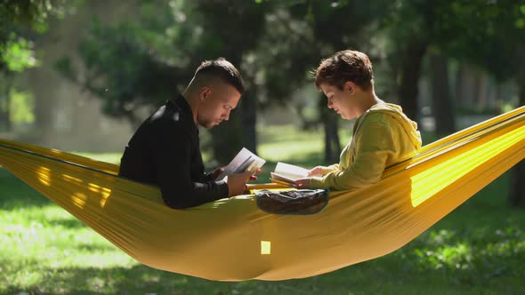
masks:
[[[245,85],[238,69],[235,68],[230,61],[224,58],[218,58],[217,60],[205,60],[195,71],[195,77],[206,75],[217,77],[221,79],[223,83],[230,84],[235,87],[239,93],[245,92]]]

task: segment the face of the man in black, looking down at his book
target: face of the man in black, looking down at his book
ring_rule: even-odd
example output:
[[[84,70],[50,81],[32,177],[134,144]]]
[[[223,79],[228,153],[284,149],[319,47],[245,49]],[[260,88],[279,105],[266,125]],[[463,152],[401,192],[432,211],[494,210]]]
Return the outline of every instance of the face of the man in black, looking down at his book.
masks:
[[[197,122],[205,128],[212,128],[230,119],[230,112],[237,107],[240,93],[229,84],[214,84],[209,91],[201,94]]]

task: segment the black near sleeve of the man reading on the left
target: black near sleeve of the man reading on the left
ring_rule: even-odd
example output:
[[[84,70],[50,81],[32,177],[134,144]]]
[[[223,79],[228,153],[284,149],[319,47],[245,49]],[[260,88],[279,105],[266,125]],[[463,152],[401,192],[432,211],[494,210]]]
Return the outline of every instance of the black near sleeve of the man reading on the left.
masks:
[[[227,197],[226,182],[196,182],[191,179],[190,135],[176,126],[164,126],[163,129],[161,132],[154,132],[157,134],[152,134],[152,156],[158,186],[166,205],[174,209],[183,209]]]

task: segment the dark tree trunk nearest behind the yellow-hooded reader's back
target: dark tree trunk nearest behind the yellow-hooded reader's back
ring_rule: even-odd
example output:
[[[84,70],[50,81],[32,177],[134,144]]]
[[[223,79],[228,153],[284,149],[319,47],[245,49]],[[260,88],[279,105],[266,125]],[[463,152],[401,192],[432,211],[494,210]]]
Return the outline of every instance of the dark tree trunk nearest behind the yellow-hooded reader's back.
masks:
[[[412,120],[418,120],[418,83],[421,76],[421,63],[427,44],[422,41],[412,41],[401,52],[400,85],[398,94],[403,112]]]

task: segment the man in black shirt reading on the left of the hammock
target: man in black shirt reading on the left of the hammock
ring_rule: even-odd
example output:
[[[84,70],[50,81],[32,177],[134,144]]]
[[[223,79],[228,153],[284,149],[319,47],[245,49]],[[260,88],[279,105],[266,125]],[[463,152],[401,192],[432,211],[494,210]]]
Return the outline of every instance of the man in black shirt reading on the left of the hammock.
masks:
[[[230,118],[244,92],[237,68],[222,58],[204,61],[177,98],[149,116],[125,147],[119,175],[160,188],[174,209],[240,195],[252,174],[215,181],[204,173],[197,124],[212,128]]]

